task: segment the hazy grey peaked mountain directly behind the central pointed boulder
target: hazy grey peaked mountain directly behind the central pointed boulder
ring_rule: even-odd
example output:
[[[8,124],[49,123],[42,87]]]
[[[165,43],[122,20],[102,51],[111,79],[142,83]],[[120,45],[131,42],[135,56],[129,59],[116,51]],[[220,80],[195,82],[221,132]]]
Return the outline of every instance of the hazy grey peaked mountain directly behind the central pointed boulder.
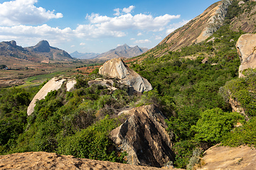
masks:
[[[147,48],[140,48],[138,46],[135,47],[129,47],[128,45],[124,44],[121,46],[118,46],[108,52],[104,52],[101,55],[98,55],[95,57],[99,60],[110,60],[113,58],[119,58],[119,57],[135,57],[137,55],[141,55],[142,53],[146,52]]]

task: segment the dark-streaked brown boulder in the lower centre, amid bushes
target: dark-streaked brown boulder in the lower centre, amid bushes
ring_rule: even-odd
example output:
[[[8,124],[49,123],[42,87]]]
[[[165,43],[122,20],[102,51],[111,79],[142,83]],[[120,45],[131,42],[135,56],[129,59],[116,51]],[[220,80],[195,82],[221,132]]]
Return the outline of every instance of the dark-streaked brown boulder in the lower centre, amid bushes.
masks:
[[[129,164],[161,167],[174,161],[166,118],[156,106],[141,106],[123,114],[129,119],[112,130],[110,138],[127,152]]]

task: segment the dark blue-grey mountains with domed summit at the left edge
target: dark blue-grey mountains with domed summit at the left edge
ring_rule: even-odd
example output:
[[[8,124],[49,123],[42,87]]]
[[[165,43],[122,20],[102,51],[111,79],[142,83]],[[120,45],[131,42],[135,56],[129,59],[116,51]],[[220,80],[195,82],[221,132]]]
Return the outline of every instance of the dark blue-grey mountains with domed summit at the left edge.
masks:
[[[57,47],[51,47],[49,42],[42,40],[35,46],[21,47],[16,41],[0,42],[0,61],[8,67],[18,67],[19,64],[50,63],[74,60],[68,52]]]

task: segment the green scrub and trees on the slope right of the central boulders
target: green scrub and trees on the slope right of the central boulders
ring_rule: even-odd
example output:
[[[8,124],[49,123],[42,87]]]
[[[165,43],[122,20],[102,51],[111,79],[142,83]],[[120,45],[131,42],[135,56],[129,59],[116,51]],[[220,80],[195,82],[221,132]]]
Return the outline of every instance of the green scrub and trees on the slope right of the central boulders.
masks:
[[[186,168],[193,149],[205,150],[223,142],[235,123],[244,123],[245,118],[232,113],[220,90],[227,81],[238,77],[240,60],[235,42],[240,35],[242,32],[233,32],[225,25],[210,37],[215,37],[214,41],[206,40],[163,57],[148,57],[142,64],[132,64],[152,84],[161,110],[169,118],[176,154],[174,166],[178,168]]]

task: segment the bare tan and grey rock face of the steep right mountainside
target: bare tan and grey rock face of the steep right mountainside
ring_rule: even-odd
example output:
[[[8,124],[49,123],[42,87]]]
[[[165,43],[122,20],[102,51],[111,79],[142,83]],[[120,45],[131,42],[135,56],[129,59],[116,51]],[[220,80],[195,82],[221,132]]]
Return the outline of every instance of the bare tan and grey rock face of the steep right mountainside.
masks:
[[[223,26],[225,14],[230,4],[230,0],[218,1],[212,4],[201,15],[167,35],[159,45],[147,52],[147,55],[161,56],[167,51],[178,50],[181,47],[206,40],[215,30]]]

